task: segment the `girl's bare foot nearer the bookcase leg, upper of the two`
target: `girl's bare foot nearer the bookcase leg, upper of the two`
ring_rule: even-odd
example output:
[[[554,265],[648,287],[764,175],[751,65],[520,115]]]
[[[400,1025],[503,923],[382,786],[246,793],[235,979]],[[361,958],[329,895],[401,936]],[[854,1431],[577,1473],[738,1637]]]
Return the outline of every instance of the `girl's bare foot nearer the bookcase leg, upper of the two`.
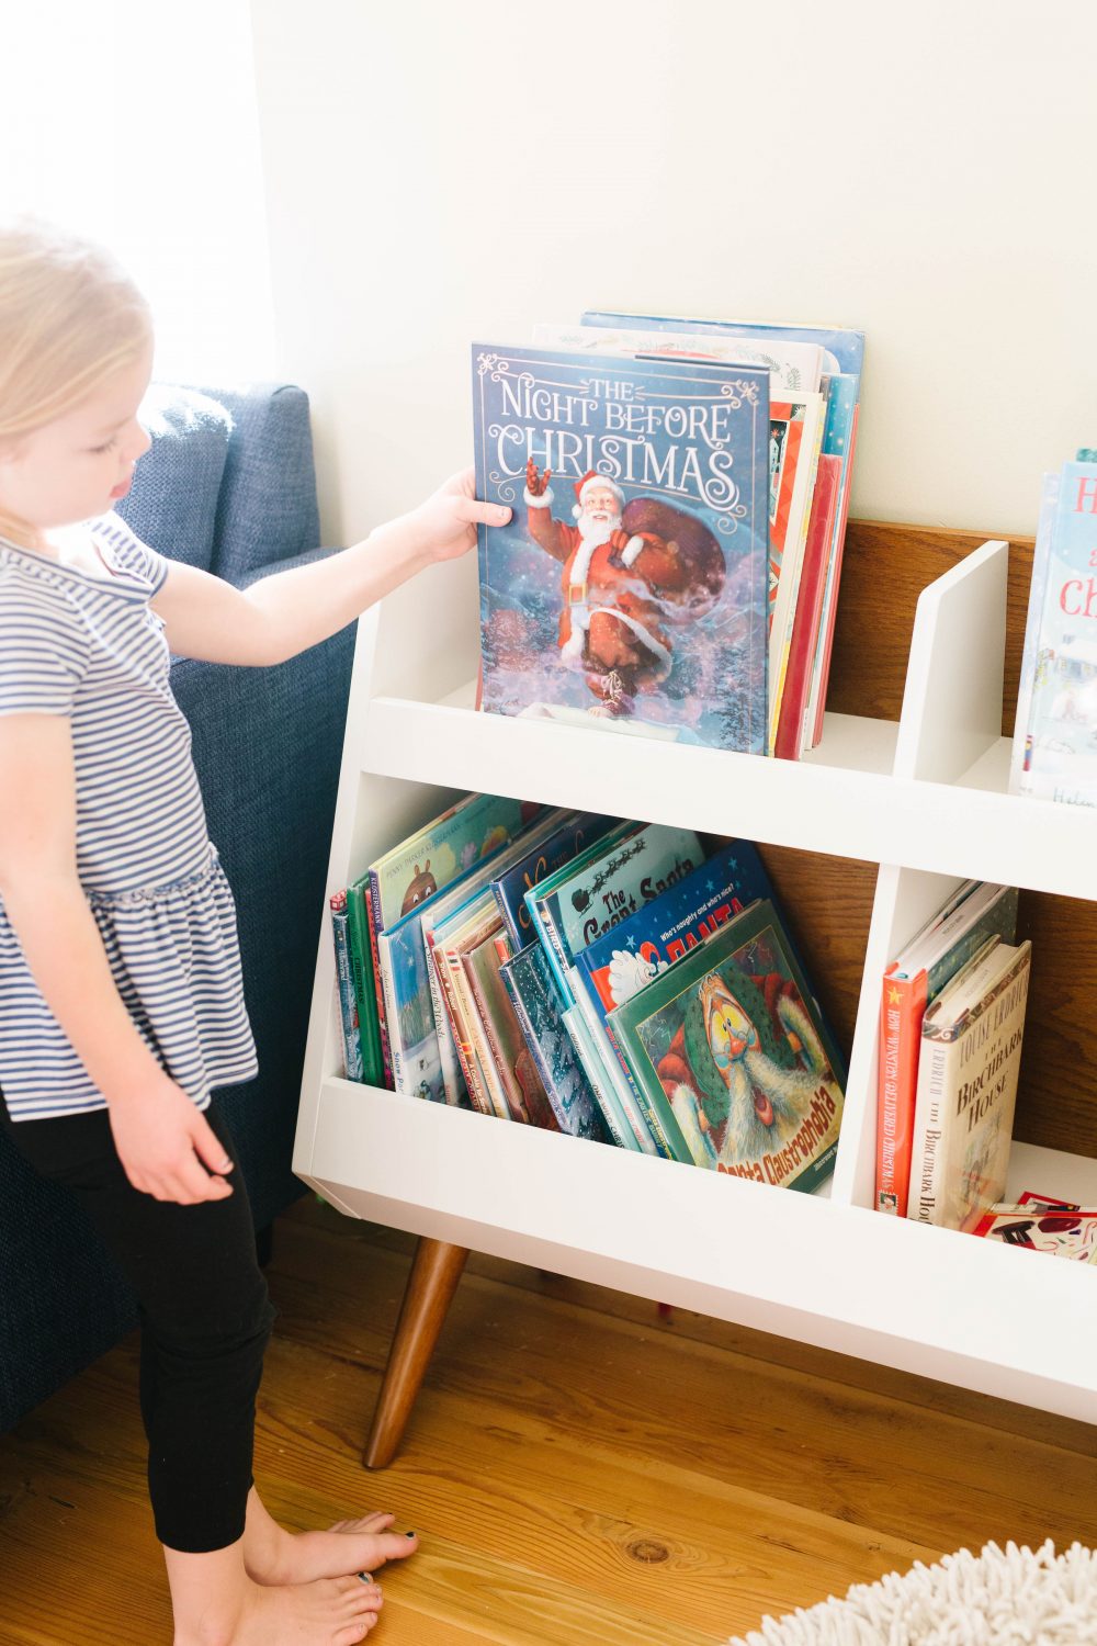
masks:
[[[414,1532],[393,1532],[393,1514],[336,1521],[327,1531],[288,1532],[252,1491],[243,1534],[243,1564],[255,1583],[312,1583],[321,1577],[377,1572],[388,1560],[406,1560],[419,1547]]]

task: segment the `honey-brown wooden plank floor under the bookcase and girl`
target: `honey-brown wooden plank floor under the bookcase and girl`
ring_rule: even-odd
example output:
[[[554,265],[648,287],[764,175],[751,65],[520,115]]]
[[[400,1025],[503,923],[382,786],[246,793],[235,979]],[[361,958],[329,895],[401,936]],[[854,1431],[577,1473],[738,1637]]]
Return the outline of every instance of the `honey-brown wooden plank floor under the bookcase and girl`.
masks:
[[[1095,1429],[485,1258],[367,1475],[411,1244],[281,1218],[260,1396],[276,1516],[421,1534],[383,1646],[709,1646],[960,1546],[1097,1547]],[[171,1639],[135,1374],[128,1340],[0,1437],[3,1646]]]

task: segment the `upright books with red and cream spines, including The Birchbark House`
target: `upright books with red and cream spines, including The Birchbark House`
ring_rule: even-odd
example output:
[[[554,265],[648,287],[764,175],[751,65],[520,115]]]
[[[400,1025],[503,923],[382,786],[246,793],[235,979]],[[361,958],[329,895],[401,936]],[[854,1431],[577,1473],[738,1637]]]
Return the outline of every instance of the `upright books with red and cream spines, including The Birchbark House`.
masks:
[[[964,881],[885,969],[878,1211],[970,1231],[1002,1200],[1031,966],[1016,907]]]

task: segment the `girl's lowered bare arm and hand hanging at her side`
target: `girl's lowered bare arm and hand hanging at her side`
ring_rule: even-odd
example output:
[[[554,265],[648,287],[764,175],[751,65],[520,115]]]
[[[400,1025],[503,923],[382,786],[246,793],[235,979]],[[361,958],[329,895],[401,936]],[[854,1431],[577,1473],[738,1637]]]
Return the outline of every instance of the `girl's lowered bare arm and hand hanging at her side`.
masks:
[[[0,716],[0,897],[46,1004],[107,1100],[133,1187],[183,1205],[230,1195],[224,1177],[211,1175],[230,1170],[225,1151],[137,1032],[76,876],[62,714]]]

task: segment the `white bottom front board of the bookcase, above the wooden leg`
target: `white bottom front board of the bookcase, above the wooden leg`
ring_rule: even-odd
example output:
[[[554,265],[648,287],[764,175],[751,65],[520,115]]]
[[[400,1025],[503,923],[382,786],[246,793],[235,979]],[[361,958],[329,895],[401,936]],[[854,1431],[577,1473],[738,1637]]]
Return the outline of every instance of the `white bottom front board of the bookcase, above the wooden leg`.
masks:
[[[294,1169],[352,1216],[1097,1420],[1084,1264],[334,1076]],[[1097,1192],[1097,1162],[1020,1144],[1011,1175]]]

